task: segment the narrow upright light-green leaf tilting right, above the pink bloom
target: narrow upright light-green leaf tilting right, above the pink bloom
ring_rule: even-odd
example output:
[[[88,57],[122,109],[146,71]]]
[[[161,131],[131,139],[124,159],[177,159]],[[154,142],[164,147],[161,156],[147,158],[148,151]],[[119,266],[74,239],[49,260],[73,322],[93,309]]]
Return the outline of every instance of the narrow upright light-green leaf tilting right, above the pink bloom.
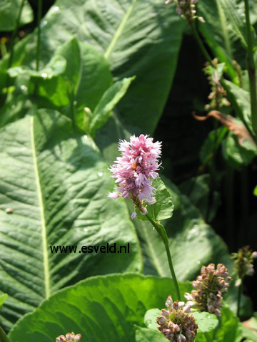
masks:
[[[112,110],[119,100],[124,97],[126,91],[128,90],[131,82],[134,80],[134,77],[131,78],[124,78],[121,81],[117,81],[111,86],[104,95],[102,96],[99,104],[96,105],[94,110],[93,116],[91,118],[89,124],[89,133],[91,135],[95,135],[96,130],[99,130],[104,123],[109,119],[111,116]]]

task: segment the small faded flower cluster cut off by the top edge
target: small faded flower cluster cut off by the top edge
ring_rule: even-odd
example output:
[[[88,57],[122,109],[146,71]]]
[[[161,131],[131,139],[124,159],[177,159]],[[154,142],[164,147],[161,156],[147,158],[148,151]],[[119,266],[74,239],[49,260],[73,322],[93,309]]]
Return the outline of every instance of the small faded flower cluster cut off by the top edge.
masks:
[[[180,16],[183,16],[188,23],[192,23],[196,19],[204,23],[202,16],[197,16],[196,14],[196,3],[198,0],[166,0],[165,4],[176,3],[176,12]]]

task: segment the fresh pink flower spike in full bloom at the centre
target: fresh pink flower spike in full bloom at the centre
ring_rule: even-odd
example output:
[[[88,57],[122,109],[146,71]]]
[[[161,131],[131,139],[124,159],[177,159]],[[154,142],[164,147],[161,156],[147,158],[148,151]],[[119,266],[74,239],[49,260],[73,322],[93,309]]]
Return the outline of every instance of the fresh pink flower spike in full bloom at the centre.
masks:
[[[156,202],[154,197],[154,187],[152,181],[156,179],[161,156],[161,142],[153,142],[153,138],[141,134],[139,137],[133,135],[129,141],[119,142],[121,157],[117,157],[110,171],[118,183],[117,192],[110,192],[110,198],[131,198],[137,209],[142,214],[147,210],[144,202],[153,204]],[[133,212],[131,218],[136,217]]]

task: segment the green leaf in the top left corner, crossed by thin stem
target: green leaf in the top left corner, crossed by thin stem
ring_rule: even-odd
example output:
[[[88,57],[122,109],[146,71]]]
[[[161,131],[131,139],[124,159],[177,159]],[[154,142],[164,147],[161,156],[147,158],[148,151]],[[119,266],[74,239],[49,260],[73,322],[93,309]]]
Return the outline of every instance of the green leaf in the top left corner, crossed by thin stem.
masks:
[[[13,31],[21,7],[22,0],[1,0],[0,5],[0,31]],[[21,12],[20,25],[33,21],[33,11],[29,1],[25,1]]]

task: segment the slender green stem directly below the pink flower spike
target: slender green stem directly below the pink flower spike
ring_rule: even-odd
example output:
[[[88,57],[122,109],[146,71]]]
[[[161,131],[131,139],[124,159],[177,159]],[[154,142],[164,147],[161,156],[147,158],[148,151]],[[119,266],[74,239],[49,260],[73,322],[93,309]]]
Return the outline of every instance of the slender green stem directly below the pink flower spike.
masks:
[[[156,232],[158,232],[158,234],[160,235],[160,237],[161,237],[161,239],[163,241],[163,244],[164,244],[165,249],[166,249],[166,254],[167,254],[167,257],[168,257],[168,266],[169,266],[169,268],[171,270],[171,276],[172,276],[173,283],[174,283],[174,286],[175,286],[175,289],[176,289],[176,295],[178,297],[178,301],[181,301],[181,294],[180,294],[179,287],[178,287],[178,281],[176,279],[176,274],[175,274],[175,271],[173,269],[173,264],[172,264],[172,259],[171,259],[171,252],[170,252],[169,247],[168,247],[168,235],[166,233],[166,229],[163,227],[163,225],[160,222],[156,222],[148,214],[146,214],[146,217],[147,217],[148,221],[151,222],[153,227],[156,229]]]

